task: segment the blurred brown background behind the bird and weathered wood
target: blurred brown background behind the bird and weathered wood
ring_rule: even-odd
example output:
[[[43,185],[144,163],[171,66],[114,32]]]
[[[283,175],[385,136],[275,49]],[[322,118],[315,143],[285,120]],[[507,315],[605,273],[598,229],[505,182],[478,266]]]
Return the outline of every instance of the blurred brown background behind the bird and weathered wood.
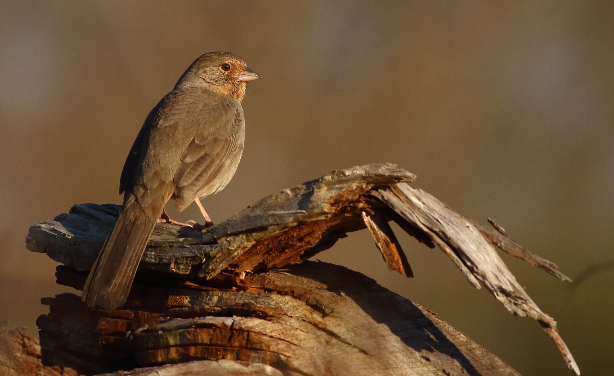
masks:
[[[28,227],[73,204],[120,203],[147,113],[217,50],[264,79],[243,101],[235,178],[203,201],[214,221],[333,169],[398,163],[418,175],[413,186],[494,218],[570,277],[593,270],[565,285],[503,256],[559,321],[583,375],[611,372],[607,0],[0,2],[0,319],[37,335],[39,299],[70,289],[55,285],[53,261],[26,250]],[[196,207],[170,214],[199,218]],[[537,323],[474,290],[441,251],[400,240],[416,278],[388,272],[366,231],[317,258],[438,312],[525,376],[570,374]]]

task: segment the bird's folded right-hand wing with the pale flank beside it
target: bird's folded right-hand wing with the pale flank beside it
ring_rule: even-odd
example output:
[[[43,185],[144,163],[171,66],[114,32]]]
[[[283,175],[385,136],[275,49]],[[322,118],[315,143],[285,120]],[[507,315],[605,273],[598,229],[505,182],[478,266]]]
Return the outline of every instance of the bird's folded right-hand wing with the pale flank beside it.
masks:
[[[221,190],[230,181],[243,152],[243,109],[236,101],[211,107],[181,155],[173,177],[177,210],[197,197]]]

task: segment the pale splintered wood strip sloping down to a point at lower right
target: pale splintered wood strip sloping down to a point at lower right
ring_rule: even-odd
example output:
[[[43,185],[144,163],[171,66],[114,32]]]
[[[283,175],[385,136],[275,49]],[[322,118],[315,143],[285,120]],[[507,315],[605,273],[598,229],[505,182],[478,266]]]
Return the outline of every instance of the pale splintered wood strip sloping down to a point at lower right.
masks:
[[[446,255],[451,256],[472,285],[480,288],[481,282],[509,312],[537,320],[561,351],[569,369],[580,374],[577,363],[558,332],[556,321],[535,304],[492,248],[490,243],[495,242],[498,233],[490,233],[489,240],[484,237],[483,228],[478,229],[474,221],[449,209],[429,193],[415,190],[405,183],[379,189],[376,196],[408,223],[429,235]],[[506,242],[513,242],[508,237],[505,239]],[[520,256],[523,258],[524,255]],[[535,258],[532,261],[539,262]],[[547,262],[544,267],[554,265]]]

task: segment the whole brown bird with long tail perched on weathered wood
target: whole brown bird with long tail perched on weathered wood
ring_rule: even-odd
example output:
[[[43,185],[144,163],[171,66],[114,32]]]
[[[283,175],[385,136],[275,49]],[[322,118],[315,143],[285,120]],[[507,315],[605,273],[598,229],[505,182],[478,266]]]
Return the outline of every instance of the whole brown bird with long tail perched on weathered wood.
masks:
[[[246,82],[260,79],[239,56],[210,52],[196,59],[147,115],[120,178],[123,205],[104,242],[81,300],[88,306],[123,305],[153,226],[169,221],[166,202],[180,212],[224,188],[243,153],[241,99]]]

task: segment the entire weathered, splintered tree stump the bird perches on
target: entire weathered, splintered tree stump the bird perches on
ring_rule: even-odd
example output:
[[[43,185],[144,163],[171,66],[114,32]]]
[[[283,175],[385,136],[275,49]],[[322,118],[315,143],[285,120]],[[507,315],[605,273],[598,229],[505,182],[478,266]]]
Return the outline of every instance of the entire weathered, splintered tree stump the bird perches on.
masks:
[[[272,194],[202,232],[157,224],[120,309],[90,309],[68,293],[42,299],[50,306],[37,320],[42,359],[87,375],[518,375],[370,278],[305,261],[368,228],[388,268],[411,277],[394,220],[440,247],[511,313],[538,320],[579,374],[556,322],[491,244],[569,278],[494,222],[488,228],[414,190],[413,178],[394,164],[352,167]],[[34,224],[27,247],[63,263],[58,283],[82,289],[118,212],[119,205],[76,205]],[[136,367],[148,368],[125,371]]]

